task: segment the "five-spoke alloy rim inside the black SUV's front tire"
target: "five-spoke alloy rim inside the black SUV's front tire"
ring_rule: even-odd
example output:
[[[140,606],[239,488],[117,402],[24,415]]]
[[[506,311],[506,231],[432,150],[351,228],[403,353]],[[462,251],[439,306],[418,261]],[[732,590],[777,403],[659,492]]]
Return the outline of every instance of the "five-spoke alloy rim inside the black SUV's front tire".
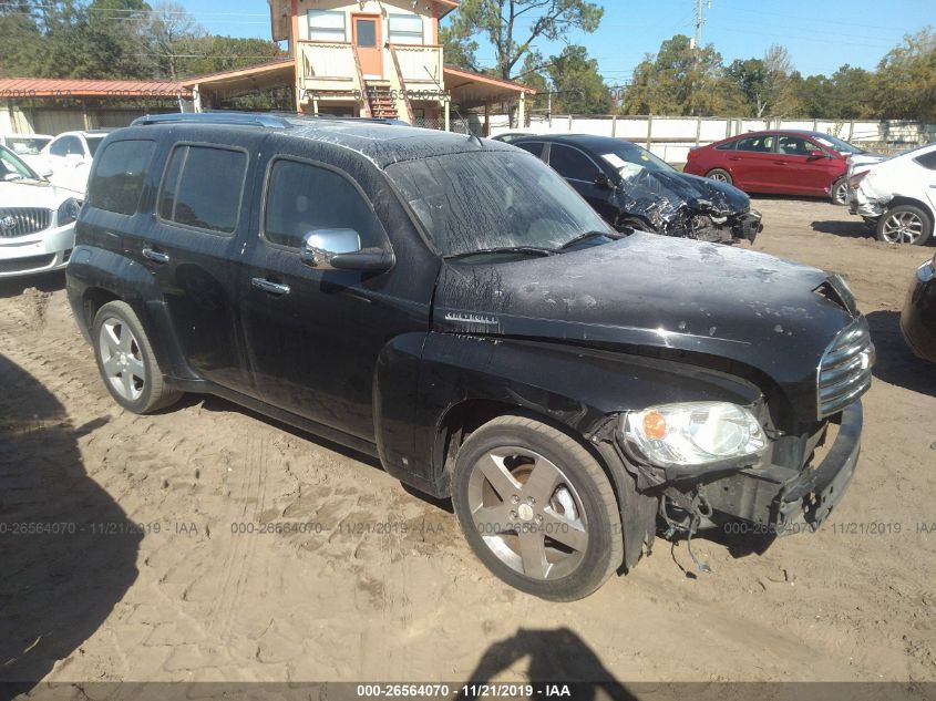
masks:
[[[517,446],[490,451],[472,470],[467,502],[484,544],[513,570],[553,580],[582,564],[587,514],[568,476],[543,455]]]

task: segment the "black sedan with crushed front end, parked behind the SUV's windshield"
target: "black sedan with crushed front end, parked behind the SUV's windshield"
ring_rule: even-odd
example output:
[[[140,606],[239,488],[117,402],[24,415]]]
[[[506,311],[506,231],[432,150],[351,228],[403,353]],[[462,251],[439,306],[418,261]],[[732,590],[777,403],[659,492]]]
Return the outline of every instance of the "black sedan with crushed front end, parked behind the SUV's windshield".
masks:
[[[548,163],[619,231],[733,244],[763,229],[751,198],[733,185],[680,173],[646,148],[590,134],[521,136],[512,145]]]

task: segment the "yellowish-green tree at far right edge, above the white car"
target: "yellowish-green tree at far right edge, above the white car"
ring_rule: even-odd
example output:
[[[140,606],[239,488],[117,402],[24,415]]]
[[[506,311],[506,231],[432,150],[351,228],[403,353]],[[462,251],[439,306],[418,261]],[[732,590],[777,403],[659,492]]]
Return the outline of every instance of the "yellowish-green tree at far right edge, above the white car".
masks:
[[[882,118],[936,120],[936,33],[904,37],[877,65],[872,107]]]

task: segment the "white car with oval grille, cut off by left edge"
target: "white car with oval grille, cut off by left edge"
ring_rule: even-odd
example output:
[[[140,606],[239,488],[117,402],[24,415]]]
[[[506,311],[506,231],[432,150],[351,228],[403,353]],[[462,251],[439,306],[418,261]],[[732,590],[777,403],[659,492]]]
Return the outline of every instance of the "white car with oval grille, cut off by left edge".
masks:
[[[74,248],[79,197],[0,146],[0,278],[65,267]]]

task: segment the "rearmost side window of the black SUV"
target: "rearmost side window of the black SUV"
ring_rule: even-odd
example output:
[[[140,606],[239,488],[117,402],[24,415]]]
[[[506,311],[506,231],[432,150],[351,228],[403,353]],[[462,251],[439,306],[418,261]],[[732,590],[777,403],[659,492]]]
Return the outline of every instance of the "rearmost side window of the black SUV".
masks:
[[[88,185],[89,204],[116,214],[134,214],[155,150],[156,144],[152,141],[111,142],[101,153],[94,177]]]

